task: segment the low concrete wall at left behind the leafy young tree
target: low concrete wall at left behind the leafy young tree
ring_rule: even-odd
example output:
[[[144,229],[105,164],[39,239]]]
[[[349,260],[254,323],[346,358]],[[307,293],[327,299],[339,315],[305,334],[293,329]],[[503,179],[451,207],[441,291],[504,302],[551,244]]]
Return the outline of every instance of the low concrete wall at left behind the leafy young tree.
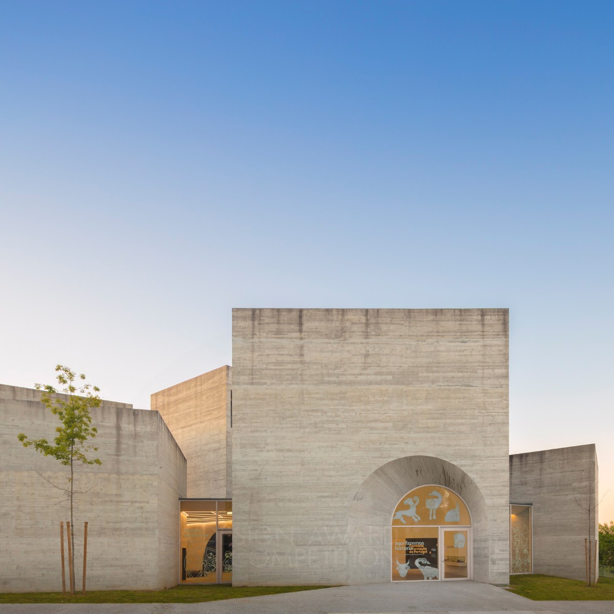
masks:
[[[69,519],[61,491],[67,468],[17,435],[53,440],[58,421],[40,392],[0,385],[0,592],[61,589],[60,521]],[[157,411],[104,401],[92,411],[98,435],[91,453],[103,462],[79,468],[76,573],[80,589],[83,523],[88,522],[90,589],[161,589],[179,581],[179,497],[185,457]],[[68,578],[68,570],[67,570]]]

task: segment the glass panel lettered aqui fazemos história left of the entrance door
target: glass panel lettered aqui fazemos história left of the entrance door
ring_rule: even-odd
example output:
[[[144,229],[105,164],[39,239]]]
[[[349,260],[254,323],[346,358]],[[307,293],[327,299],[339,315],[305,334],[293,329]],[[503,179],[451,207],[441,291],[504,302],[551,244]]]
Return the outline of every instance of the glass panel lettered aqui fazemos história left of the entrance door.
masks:
[[[439,578],[439,529],[392,527],[392,581]]]

